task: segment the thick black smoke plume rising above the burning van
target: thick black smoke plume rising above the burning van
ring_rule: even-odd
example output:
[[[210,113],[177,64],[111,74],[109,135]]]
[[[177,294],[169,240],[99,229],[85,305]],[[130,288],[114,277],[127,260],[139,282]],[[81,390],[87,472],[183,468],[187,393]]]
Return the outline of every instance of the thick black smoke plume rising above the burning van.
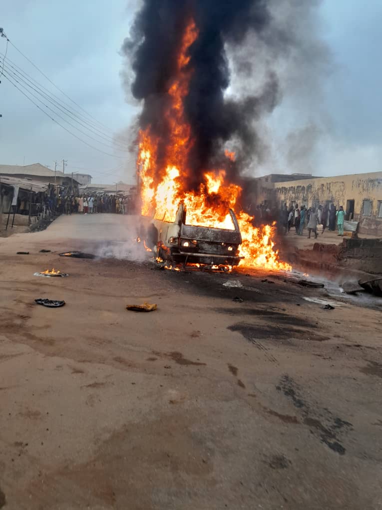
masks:
[[[283,50],[288,36],[280,33],[269,37],[271,14],[267,0],[144,0],[122,50],[134,72],[131,92],[143,100],[140,127],[150,125],[151,133],[160,139],[159,160],[169,137],[163,115],[167,91],[191,18],[199,36],[189,47],[188,65],[193,73],[184,98],[185,117],[194,139],[188,161],[192,171],[186,184],[188,189],[197,189],[208,169],[226,165],[230,180],[239,182],[240,170],[261,159],[263,144],[254,124],[271,112],[280,99],[277,73],[271,66],[265,72],[261,90],[241,98],[227,94],[230,85],[227,46],[239,47],[254,34],[254,41],[263,40]],[[256,72],[256,61],[249,65]],[[227,142],[238,148],[234,164],[224,158]]]

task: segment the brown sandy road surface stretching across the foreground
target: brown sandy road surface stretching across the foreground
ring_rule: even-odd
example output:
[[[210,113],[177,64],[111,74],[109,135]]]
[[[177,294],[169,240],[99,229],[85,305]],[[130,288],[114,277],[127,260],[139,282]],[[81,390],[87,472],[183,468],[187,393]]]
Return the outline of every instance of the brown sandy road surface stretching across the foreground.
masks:
[[[58,256],[123,257],[132,223],[60,217],[0,240],[0,507],[381,508],[381,304],[324,310],[304,297],[333,284],[255,270]],[[70,276],[33,275],[51,267]],[[158,309],[126,311],[145,300]]]

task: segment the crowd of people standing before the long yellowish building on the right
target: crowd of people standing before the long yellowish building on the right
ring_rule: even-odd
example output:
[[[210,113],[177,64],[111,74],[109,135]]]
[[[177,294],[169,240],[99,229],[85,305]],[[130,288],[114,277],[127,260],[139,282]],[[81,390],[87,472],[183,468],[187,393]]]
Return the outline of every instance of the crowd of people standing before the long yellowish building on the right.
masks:
[[[345,211],[340,206],[336,209],[336,206],[332,203],[329,208],[327,205],[318,206],[317,210],[315,207],[309,209],[305,206],[298,207],[290,206],[289,209],[285,204],[280,212],[278,218],[279,231],[287,234],[290,232],[292,226],[295,228],[297,235],[302,236],[304,234],[304,228],[308,230],[308,238],[311,237],[313,232],[317,239],[317,226],[322,225],[322,234],[325,228],[332,232],[336,231],[336,225],[338,228],[338,235],[343,236],[343,226],[345,221]]]

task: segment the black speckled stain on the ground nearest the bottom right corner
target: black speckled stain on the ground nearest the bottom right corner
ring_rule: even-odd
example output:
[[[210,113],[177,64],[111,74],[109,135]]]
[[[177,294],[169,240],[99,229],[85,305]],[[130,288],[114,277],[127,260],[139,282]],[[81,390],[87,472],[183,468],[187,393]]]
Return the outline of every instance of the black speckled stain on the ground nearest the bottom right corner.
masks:
[[[286,397],[291,399],[293,405],[302,415],[304,425],[317,435],[322,443],[340,455],[344,455],[345,448],[340,443],[339,435],[352,429],[352,424],[342,418],[334,417],[326,408],[320,409],[318,405],[309,404],[302,396],[301,390],[288,375],[284,375],[280,384],[276,386]],[[324,422],[325,424],[323,424]]]

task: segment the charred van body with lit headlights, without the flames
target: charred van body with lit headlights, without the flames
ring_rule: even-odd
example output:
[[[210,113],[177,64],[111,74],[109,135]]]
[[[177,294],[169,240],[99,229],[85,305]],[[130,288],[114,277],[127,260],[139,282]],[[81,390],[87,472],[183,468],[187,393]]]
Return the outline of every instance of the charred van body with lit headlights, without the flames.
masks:
[[[237,266],[242,257],[238,247],[241,234],[235,213],[230,209],[233,229],[187,225],[181,204],[174,222],[152,219],[147,226],[147,239],[156,246],[159,260],[174,264]]]

